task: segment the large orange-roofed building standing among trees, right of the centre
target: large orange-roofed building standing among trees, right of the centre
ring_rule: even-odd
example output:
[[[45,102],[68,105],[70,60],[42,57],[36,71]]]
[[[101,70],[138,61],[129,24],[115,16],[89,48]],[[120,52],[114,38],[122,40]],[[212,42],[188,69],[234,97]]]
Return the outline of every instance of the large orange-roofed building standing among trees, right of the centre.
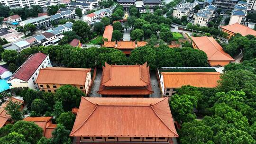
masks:
[[[192,40],[194,49],[199,49],[206,53],[210,66],[225,66],[234,60],[224,52],[221,45],[212,36],[192,37]]]

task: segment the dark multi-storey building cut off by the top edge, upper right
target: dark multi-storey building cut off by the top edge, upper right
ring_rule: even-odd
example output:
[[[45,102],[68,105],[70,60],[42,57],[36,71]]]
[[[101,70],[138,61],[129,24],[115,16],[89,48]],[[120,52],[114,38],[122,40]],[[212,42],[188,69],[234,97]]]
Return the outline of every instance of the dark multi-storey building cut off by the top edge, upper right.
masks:
[[[232,10],[235,8],[235,5],[238,3],[238,0],[215,0],[214,5],[218,9]]]

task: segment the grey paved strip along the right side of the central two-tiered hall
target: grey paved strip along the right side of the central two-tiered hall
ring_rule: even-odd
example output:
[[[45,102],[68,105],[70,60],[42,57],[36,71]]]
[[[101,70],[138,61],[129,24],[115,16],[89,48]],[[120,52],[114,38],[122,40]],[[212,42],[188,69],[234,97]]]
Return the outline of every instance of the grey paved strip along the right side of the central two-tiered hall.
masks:
[[[152,85],[152,90],[154,93],[150,95],[151,98],[160,98],[161,97],[161,92],[159,88],[159,84],[157,81],[156,73],[155,71],[150,72],[150,78],[151,78],[151,85]]]

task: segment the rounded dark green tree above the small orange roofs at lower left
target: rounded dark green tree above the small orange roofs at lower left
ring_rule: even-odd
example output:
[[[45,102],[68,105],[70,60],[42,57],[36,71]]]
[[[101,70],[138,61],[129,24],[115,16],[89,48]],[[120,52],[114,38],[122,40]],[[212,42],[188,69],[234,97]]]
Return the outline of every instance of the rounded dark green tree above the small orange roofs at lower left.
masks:
[[[43,99],[34,99],[31,104],[31,110],[37,114],[43,114],[46,112],[48,104]]]

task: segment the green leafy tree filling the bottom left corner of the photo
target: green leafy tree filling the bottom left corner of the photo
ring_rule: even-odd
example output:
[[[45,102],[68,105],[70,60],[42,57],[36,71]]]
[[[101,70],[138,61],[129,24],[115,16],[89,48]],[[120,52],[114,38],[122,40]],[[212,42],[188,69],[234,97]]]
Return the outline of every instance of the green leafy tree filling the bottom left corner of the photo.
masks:
[[[0,138],[1,144],[30,144],[26,142],[24,135],[16,132],[11,132],[8,135]]]

